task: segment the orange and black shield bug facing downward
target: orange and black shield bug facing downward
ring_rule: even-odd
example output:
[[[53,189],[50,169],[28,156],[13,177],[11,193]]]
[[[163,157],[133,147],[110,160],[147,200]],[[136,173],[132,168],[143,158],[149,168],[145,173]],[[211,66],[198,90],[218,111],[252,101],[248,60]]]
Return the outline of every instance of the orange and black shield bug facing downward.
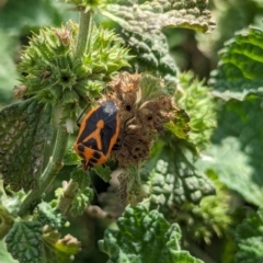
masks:
[[[83,170],[105,163],[119,134],[119,117],[115,102],[106,101],[92,108],[79,126],[73,148],[82,158]]]

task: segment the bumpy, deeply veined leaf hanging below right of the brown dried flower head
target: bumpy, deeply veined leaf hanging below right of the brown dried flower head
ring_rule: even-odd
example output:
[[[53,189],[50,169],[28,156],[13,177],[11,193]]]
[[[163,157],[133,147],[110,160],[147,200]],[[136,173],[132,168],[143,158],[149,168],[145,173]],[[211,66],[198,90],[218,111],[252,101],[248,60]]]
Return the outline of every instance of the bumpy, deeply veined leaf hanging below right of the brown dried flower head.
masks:
[[[205,174],[197,171],[176,146],[173,149],[174,153],[168,147],[162,147],[149,163],[149,167],[153,163],[150,171],[152,205],[162,204],[165,209],[186,201],[198,204],[204,196],[215,194],[213,184]]]

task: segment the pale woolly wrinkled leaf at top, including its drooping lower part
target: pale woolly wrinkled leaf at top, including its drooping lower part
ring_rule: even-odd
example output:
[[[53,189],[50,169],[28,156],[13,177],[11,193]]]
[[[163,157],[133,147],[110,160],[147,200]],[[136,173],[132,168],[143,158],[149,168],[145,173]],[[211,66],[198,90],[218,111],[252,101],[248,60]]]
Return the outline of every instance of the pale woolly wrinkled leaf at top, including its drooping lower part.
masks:
[[[139,71],[151,71],[167,81],[176,82],[176,66],[169,54],[168,27],[186,27],[209,32],[215,27],[207,1],[118,1],[107,4],[102,13],[123,27],[122,37],[136,56],[132,65]]]

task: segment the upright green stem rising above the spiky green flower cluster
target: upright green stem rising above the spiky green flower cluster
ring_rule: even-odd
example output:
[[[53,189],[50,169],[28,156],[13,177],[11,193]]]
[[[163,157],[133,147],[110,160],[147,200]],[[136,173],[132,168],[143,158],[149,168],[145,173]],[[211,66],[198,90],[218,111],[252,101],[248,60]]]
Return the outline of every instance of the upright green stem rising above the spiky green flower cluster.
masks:
[[[92,28],[92,12],[80,12],[79,35],[76,47],[76,58],[81,58],[85,50],[90,48],[91,28]]]

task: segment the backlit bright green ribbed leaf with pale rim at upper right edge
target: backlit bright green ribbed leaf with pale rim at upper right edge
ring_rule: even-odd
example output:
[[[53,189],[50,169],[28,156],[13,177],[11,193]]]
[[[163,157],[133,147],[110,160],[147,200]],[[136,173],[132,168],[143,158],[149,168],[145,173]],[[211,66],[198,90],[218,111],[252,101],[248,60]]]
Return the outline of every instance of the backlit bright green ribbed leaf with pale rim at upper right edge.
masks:
[[[216,96],[244,100],[249,94],[263,94],[262,41],[263,31],[250,27],[226,43],[218,69],[210,77]]]

